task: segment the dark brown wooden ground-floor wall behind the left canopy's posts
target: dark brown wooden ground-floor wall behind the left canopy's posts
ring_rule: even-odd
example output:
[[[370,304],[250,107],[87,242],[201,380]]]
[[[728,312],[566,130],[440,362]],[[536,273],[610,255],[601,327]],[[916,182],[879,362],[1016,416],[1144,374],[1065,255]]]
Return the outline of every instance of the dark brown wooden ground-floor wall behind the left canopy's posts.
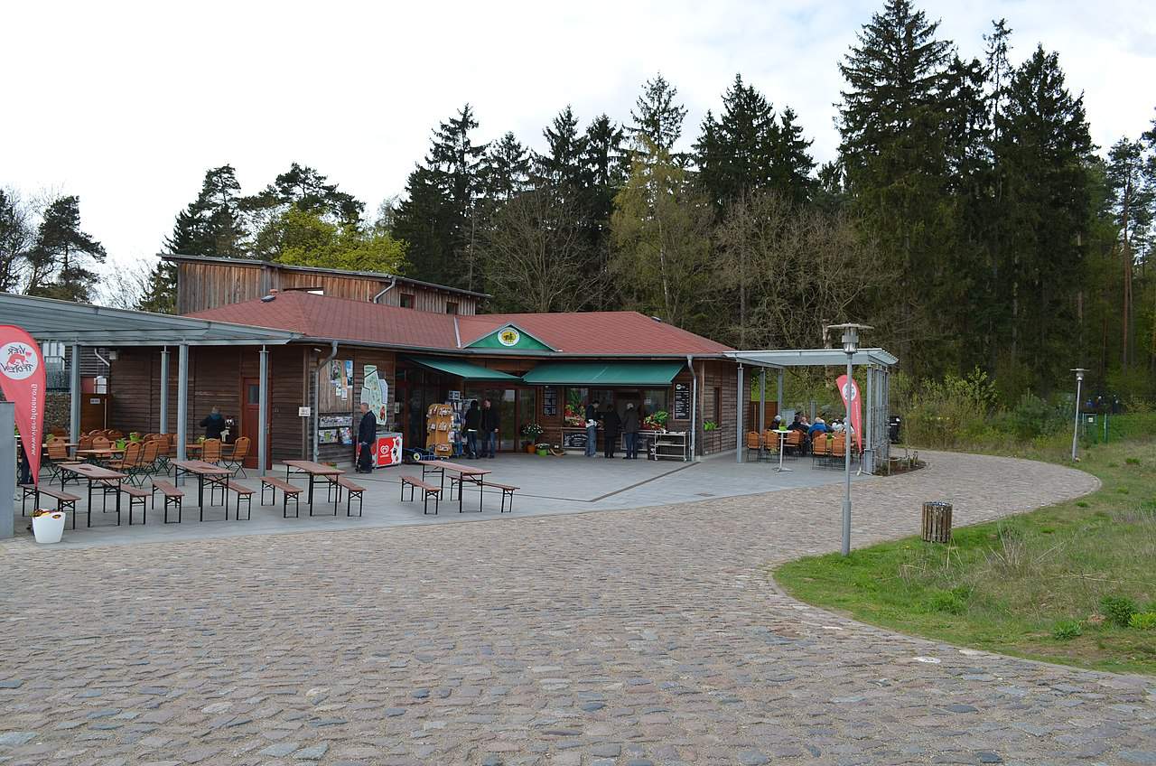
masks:
[[[269,349],[269,448],[274,461],[299,458],[305,433],[297,407],[304,404],[302,367],[305,349],[275,346]],[[177,356],[169,354],[169,432],[177,430]],[[214,406],[237,419],[235,436],[242,434],[243,377],[260,374],[255,346],[193,346],[188,349],[188,437],[203,430],[200,421]],[[161,349],[125,347],[112,362],[109,380],[112,395],[111,427],[124,432],[151,433],[161,419]],[[257,449],[257,434],[249,434]]]

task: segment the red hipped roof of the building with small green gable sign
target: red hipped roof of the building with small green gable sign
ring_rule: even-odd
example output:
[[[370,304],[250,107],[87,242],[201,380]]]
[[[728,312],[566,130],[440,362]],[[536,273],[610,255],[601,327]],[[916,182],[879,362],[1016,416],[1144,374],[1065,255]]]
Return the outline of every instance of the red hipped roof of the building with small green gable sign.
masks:
[[[460,351],[513,324],[562,355],[686,356],[734,351],[637,311],[457,316],[294,290],[273,301],[229,303],[188,316],[403,348]]]

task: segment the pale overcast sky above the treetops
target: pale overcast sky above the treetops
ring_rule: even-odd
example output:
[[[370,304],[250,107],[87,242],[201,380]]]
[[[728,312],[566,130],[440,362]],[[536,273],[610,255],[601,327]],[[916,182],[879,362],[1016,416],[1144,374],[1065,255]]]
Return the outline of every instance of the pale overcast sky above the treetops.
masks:
[[[464,103],[477,140],[541,148],[565,104],[629,118],[661,72],[689,109],[684,141],[736,72],[791,105],[833,156],[837,61],[882,0],[780,2],[10,2],[0,6],[0,186],[79,194],[118,264],[161,249],[208,168],[244,192],[310,164],[373,209],[405,190],[430,130]],[[924,0],[980,56],[995,17],[1013,60],[1057,50],[1092,139],[1138,137],[1156,106],[1156,3]]]

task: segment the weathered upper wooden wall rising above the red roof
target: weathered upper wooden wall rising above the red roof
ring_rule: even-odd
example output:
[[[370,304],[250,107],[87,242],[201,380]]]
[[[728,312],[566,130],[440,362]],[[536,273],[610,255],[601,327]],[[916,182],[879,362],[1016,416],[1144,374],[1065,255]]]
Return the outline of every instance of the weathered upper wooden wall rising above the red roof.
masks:
[[[178,262],[177,314],[205,311],[228,303],[252,301],[271,289],[311,288],[326,295],[354,301],[370,301],[390,286],[388,280],[369,277],[344,277],[317,272],[299,272],[259,262],[238,260],[236,264]],[[401,295],[414,299],[418,311],[445,314],[446,303],[458,304],[458,314],[477,312],[477,301],[461,295],[399,281],[381,297],[386,305],[400,305]]]

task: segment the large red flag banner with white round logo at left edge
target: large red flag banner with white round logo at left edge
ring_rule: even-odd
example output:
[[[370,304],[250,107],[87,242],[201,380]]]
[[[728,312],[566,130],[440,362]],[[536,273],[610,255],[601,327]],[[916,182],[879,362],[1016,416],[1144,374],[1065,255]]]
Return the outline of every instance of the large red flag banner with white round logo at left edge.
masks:
[[[44,440],[44,359],[31,336],[10,324],[0,325],[0,390],[16,405],[16,428],[28,457],[32,481],[40,483]],[[0,434],[0,439],[7,439]]]

